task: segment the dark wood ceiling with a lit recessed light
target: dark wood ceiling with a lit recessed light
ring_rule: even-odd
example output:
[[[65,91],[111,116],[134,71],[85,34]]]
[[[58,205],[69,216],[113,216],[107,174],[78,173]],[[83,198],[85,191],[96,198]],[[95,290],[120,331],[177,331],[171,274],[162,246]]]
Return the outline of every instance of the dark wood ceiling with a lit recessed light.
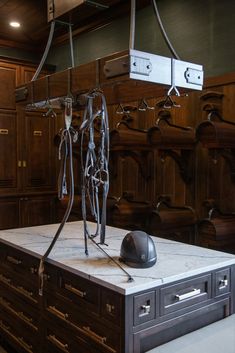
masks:
[[[69,2],[69,0],[63,1]],[[71,21],[73,35],[79,35],[124,16],[130,11],[130,0],[99,0],[101,3],[104,1],[110,4],[107,10],[100,10],[86,4],[75,8],[60,19]],[[143,7],[149,2],[150,0],[137,0],[137,6]],[[10,21],[20,22],[21,27],[19,29],[10,27]],[[42,51],[45,48],[49,30],[47,0],[0,0],[0,47]],[[67,39],[67,27],[57,25],[53,45]]]

